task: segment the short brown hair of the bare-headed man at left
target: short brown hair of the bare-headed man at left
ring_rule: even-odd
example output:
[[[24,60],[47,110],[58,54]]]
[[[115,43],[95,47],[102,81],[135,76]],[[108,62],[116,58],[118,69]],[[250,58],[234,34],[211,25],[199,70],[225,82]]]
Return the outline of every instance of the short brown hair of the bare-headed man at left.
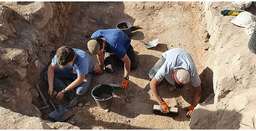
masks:
[[[57,50],[56,54],[57,54],[56,61],[59,64],[60,68],[64,68],[67,65],[67,63],[73,61],[75,57],[75,51],[73,50],[73,48],[69,46],[60,47]]]

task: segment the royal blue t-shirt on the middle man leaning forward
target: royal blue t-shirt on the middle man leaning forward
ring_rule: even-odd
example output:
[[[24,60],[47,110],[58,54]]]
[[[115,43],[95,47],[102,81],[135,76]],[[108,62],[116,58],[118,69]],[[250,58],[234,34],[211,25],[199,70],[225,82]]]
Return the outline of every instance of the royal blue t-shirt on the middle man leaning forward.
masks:
[[[116,54],[120,59],[124,58],[131,43],[131,39],[119,29],[98,30],[92,34],[93,37],[103,37],[107,43],[104,51]]]

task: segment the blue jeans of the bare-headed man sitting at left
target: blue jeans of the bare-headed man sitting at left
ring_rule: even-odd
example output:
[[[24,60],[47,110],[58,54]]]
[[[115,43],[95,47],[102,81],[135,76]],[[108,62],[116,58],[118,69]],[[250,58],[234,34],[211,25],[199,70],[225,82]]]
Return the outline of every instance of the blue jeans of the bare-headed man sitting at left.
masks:
[[[44,72],[44,79],[48,81],[47,72]],[[83,95],[89,89],[93,74],[88,73],[85,75],[84,81],[78,85],[77,87],[71,89],[77,95]],[[67,87],[67,85],[63,82],[63,80],[76,80],[77,74],[73,74],[68,68],[61,69],[60,67],[56,67],[54,70],[54,78],[53,78],[53,87],[57,91],[62,91]]]

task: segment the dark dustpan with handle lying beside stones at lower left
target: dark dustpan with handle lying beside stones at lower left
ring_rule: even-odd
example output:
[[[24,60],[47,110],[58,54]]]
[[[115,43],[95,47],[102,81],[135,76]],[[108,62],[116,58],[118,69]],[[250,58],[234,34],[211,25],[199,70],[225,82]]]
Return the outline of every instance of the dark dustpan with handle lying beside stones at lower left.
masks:
[[[56,109],[52,101],[50,100],[52,107],[54,108],[54,111],[49,113],[49,117],[61,122],[67,120],[69,117],[71,117],[74,113],[66,109],[65,107],[61,107],[59,109]]]

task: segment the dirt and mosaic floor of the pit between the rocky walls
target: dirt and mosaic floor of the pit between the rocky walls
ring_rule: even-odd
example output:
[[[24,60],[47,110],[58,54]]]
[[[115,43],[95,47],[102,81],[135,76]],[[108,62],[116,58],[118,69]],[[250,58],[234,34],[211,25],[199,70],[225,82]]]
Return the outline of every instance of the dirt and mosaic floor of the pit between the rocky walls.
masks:
[[[183,109],[193,101],[192,85],[170,92],[167,89],[168,82],[163,80],[159,84],[160,94],[168,106],[178,108],[179,116],[153,115],[153,105],[158,103],[150,90],[148,72],[163,52],[182,48],[193,57],[201,81],[204,81],[205,75],[209,75],[209,72],[203,73],[206,67],[202,63],[208,52],[203,49],[205,43],[198,36],[201,25],[200,5],[201,2],[72,2],[70,26],[63,45],[88,52],[95,68],[98,68],[96,55],[92,55],[86,45],[91,34],[99,29],[115,29],[117,23],[127,21],[132,25],[140,25],[139,29],[132,31],[130,37],[139,63],[137,69],[130,71],[130,91],[116,91],[108,112],[97,106],[91,91],[99,84],[121,83],[123,66],[119,66],[113,73],[104,71],[92,78],[90,89],[80,96],[79,102],[91,101],[90,106],[72,109],[67,107],[66,99],[54,101],[56,107],[64,106],[74,112],[74,116],[65,122],[80,129],[190,129],[190,119],[185,117]],[[139,42],[154,39],[160,39],[159,44],[149,50]],[[41,80],[39,86],[48,99],[48,83],[43,79],[43,73]],[[33,101],[33,104],[39,107],[42,104],[40,101]],[[54,121],[48,116],[53,110],[41,109],[42,119]]]

